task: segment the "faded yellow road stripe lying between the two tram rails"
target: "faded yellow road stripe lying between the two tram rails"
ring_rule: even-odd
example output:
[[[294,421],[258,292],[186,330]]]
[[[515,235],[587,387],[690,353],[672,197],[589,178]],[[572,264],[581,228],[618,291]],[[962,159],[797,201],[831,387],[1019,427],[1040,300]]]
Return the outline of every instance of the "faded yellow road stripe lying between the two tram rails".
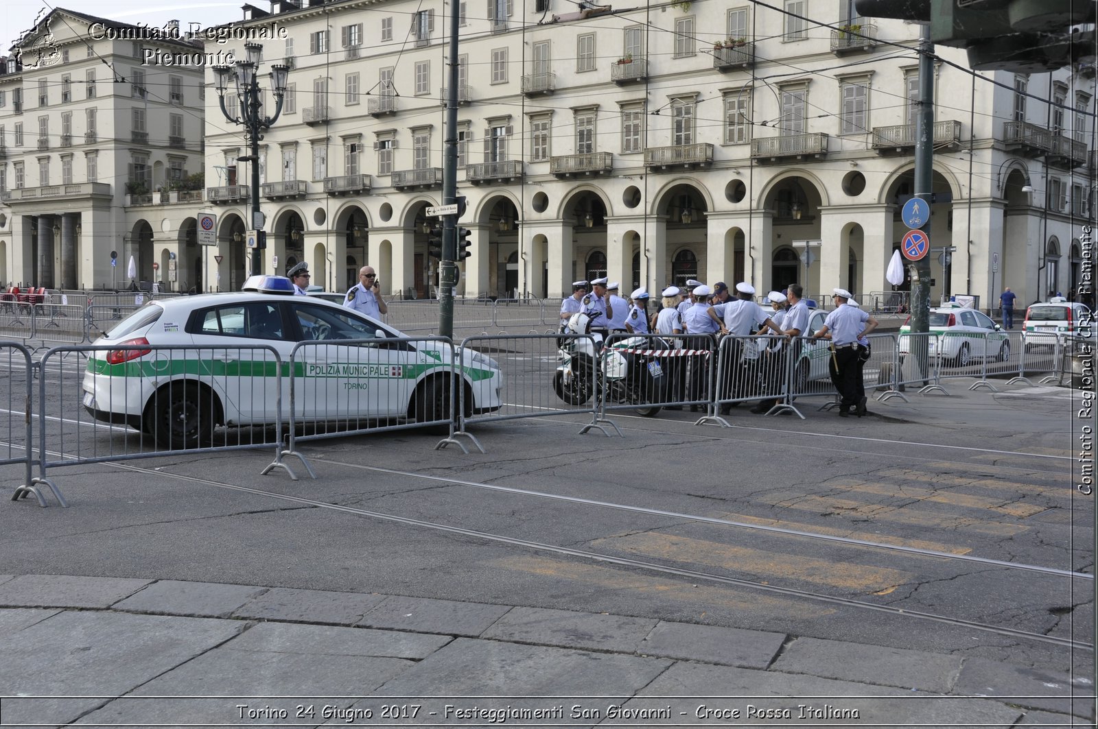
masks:
[[[738,574],[771,579],[778,576],[783,580],[793,579],[863,593],[877,592],[911,582],[914,579],[911,574],[900,570],[736,547],[670,534],[643,532],[607,537],[595,540],[592,546],[596,549],[609,548],[680,563],[706,564],[731,570]]]

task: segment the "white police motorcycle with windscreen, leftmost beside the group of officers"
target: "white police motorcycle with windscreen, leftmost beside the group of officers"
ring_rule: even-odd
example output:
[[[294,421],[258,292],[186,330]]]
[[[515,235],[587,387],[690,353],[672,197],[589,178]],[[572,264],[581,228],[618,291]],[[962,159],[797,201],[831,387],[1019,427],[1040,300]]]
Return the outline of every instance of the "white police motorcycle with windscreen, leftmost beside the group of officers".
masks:
[[[591,317],[584,313],[572,314],[567,334],[591,334]],[[557,359],[560,365],[553,373],[552,386],[557,396],[570,405],[583,405],[593,394],[604,396],[608,403],[634,404],[637,413],[651,417],[660,405],[646,403],[666,402],[670,373],[666,360],[645,354],[657,349],[671,349],[658,337],[627,337],[603,346],[602,335],[589,338],[561,338]],[[603,378],[595,377],[597,371]],[[594,382],[592,378],[594,377]],[[602,392],[605,381],[606,392]]]

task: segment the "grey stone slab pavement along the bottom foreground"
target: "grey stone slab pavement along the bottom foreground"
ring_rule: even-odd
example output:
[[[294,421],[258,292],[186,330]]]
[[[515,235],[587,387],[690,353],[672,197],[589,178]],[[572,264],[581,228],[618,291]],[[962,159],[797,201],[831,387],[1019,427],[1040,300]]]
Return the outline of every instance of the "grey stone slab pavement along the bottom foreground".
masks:
[[[1052,727],[1094,708],[1067,674],[780,632],[32,574],[0,575],[0,686],[2,727]]]

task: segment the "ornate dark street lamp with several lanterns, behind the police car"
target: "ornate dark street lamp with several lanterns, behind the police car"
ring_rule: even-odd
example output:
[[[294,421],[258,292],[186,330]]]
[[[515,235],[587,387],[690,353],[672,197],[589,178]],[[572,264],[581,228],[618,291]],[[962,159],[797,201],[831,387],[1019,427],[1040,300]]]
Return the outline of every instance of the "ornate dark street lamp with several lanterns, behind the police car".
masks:
[[[250,142],[250,155],[238,157],[238,161],[251,162],[251,228],[259,232],[264,229],[264,214],[259,210],[259,141],[262,139],[262,132],[269,130],[278,121],[282,113],[282,101],[285,97],[285,81],[289,76],[289,67],[281,64],[271,66],[271,92],[274,94],[276,106],[273,116],[261,116],[262,103],[259,101],[259,56],[262,46],[256,43],[244,45],[245,59],[236,61],[236,65],[215,66],[214,85],[217,89],[217,100],[221,103],[221,113],[225,119],[234,124],[243,124],[248,141]],[[225,108],[225,91],[228,88],[228,79],[232,76],[236,87],[236,98],[240,110],[239,116],[233,116]],[[256,247],[251,250],[251,273],[259,273],[259,250],[265,247],[265,236],[257,235]]]

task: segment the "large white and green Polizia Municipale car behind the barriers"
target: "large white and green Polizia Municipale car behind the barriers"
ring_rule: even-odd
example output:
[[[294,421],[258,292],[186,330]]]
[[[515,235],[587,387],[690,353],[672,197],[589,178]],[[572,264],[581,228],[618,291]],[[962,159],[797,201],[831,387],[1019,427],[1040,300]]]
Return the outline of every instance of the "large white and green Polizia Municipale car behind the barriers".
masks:
[[[291,295],[282,277],[245,289],[156,300],[123,319],[96,343],[117,348],[89,357],[85,408],[165,448],[204,447],[219,425],[272,425],[278,395],[287,422],[291,386],[296,423],[449,419],[448,343],[402,339],[341,305]],[[458,370],[467,414],[500,408],[495,360],[462,350]]]

